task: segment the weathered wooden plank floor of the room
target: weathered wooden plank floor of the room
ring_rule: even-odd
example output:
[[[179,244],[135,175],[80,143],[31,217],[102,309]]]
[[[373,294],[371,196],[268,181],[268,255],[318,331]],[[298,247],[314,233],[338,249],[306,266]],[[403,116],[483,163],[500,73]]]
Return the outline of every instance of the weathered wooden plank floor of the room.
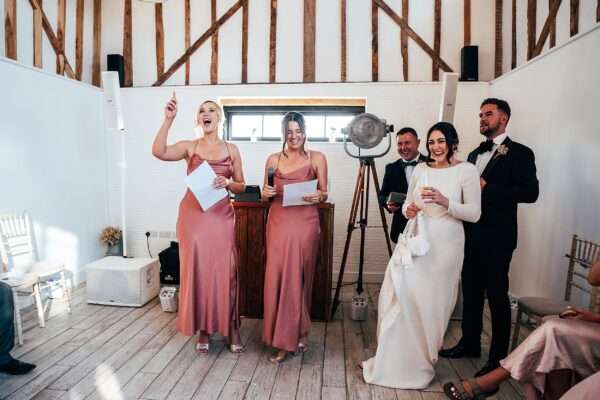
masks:
[[[46,327],[35,310],[22,313],[23,346],[13,355],[37,364],[30,374],[0,374],[0,399],[35,400],[190,400],[190,399],[443,399],[441,385],[471,377],[480,359],[440,359],[436,377],[425,390],[399,390],[366,384],[356,365],[375,353],[377,301],[380,285],[365,285],[369,299],[366,321],[352,321],[354,286],[341,291],[332,321],[314,322],[308,351],[273,364],[273,349],[262,342],[262,321],[242,319],[243,354],[232,354],[221,337],[212,338],[210,352],[195,351],[196,338],[175,329],[176,315],[161,310],[154,299],[144,307],[87,304],[85,286],[73,290],[71,308],[52,300]],[[491,321],[486,308],[482,347],[489,349]],[[531,329],[521,329],[521,340]],[[452,321],[444,338],[451,346],[460,338],[460,323]],[[522,399],[518,384],[507,382],[492,399]]]

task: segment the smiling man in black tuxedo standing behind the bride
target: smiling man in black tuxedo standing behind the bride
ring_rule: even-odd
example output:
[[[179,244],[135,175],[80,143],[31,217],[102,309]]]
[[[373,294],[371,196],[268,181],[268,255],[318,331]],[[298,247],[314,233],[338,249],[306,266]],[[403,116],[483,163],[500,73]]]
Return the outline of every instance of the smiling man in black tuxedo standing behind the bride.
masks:
[[[388,212],[394,214],[390,239],[394,243],[406,226],[406,218],[402,215],[402,204],[388,203],[391,192],[406,193],[410,176],[418,162],[425,161],[425,156],[419,153],[419,137],[413,128],[402,128],[396,132],[396,144],[400,159],[385,166],[383,184],[379,192],[379,204]]]

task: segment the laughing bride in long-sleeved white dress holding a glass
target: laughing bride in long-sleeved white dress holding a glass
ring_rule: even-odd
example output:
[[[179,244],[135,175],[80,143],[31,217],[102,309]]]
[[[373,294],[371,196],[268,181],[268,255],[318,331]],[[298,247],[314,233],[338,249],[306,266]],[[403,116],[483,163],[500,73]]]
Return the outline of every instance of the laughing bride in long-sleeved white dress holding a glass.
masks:
[[[430,249],[406,257],[398,241],[379,294],[377,352],[362,363],[367,383],[401,389],[426,388],[456,303],[464,256],[462,221],[481,215],[479,173],[473,164],[454,158],[458,135],[439,122],[427,133],[433,161],[418,164],[402,212],[419,218]],[[402,257],[404,255],[404,257]]]

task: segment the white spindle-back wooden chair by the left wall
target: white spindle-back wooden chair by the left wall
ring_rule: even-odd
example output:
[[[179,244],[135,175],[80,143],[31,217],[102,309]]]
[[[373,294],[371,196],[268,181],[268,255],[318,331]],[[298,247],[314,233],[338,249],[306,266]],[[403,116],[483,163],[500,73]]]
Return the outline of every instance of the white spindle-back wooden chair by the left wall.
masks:
[[[71,296],[65,279],[65,268],[62,263],[40,261],[33,243],[31,220],[29,215],[0,215],[0,250],[2,261],[8,267],[4,279],[8,282],[15,299],[17,294],[33,296],[37,308],[40,327],[44,327],[46,305],[42,301],[42,290],[60,285],[66,297],[67,311],[71,312]],[[47,304],[47,303],[46,303]],[[17,335],[22,344],[21,316],[18,304],[15,304]]]

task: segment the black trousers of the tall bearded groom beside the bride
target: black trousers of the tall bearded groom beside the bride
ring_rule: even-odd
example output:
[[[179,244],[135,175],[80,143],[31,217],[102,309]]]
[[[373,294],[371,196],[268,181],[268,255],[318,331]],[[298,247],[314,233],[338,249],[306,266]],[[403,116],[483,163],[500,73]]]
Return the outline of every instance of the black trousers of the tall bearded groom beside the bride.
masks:
[[[492,317],[492,343],[488,361],[497,364],[508,354],[510,300],[508,270],[513,250],[493,244],[467,246],[462,270],[463,320],[461,342],[470,349],[481,346],[484,295]]]

